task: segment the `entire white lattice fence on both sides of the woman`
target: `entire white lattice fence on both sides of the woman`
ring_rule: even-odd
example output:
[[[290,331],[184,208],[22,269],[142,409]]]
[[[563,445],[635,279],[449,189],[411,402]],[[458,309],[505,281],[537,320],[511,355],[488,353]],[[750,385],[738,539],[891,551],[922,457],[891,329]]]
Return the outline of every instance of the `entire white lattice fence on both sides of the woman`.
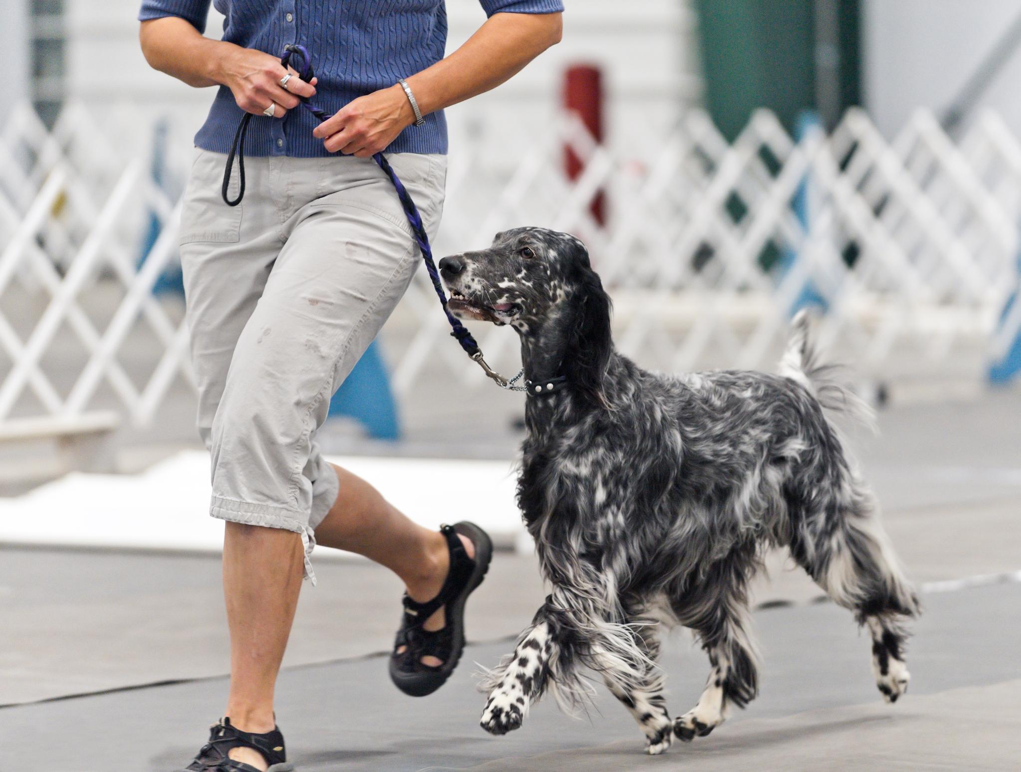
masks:
[[[151,294],[176,257],[177,195],[107,137],[74,106],[52,133],[19,107],[0,135],[0,422],[81,413],[103,386],[144,423],[190,378],[180,300]],[[772,368],[806,297],[826,306],[824,342],[872,373],[978,378],[1021,328],[998,328],[1017,286],[1021,144],[992,113],[958,143],[927,112],[887,142],[861,110],[796,142],[767,111],[733,143],[699,112],[629,140],[597,146],[568,117],[480,129],[451,155],[437,254],[519,225],[577,234],[615,298],[619,346],[664,370]],[[568,145],[586,162],[575,181]],[[179,181],[187,157],[169,157]],[[600,190],[603,225],[589,211]],[[138,270],[151,213],[163,230]],[[398,391],[484,382],[424,272],[390,329]],[[513,334],[477,332],[514,367]]]

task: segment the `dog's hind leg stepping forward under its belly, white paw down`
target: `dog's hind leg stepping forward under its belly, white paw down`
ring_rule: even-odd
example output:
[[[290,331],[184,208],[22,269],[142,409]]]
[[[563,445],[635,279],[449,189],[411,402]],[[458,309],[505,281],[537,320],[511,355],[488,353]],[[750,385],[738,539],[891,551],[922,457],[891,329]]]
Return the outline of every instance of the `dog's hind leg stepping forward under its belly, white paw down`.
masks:
[[[755,568],[752,550],[735,550],[715,564],[697,588],[673,604],[681,624],[701,639],[712,665],[698,704],[674,720],[674,734],[685,742],[696,735],[704,737],[723,723],[732,707],[743,708],[759,693],[745,589]]]

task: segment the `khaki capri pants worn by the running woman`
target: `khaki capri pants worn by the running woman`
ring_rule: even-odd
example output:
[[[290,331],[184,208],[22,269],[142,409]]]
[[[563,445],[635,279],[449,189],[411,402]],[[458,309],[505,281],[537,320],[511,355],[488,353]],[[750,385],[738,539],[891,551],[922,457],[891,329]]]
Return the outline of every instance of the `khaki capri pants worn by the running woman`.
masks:
[[[446,156],[387,157],[435,236]],[[315,432],[421,256],[372,158],[246,158],[233,207],[221,198],[225,161],[196,150],[180,238],[209,514],[301,534],[314,583],[314,530],[338,487]]]

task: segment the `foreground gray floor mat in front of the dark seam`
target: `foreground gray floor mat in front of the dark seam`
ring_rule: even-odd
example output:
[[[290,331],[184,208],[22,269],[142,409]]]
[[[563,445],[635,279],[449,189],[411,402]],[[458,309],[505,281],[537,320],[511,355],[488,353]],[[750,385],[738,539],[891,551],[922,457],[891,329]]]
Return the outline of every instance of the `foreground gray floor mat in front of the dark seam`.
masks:
[[[476,722],[483,697],[470,663],[492,664],[507,643],[473,645],[453,679],[412,699],[389,683],[386,661],[292,668],[278,715],[303,772],[436,769],[1017,769],[1021,759],[1021,586],[926,596],[910,654],[910,693],[882,703],[869,643],[831,605],[755,615],[764,650],[762,695],[710,737],[641,755],[641,736],[601,688],[580,720],[540,703],[518,732],[493,738]],[[708,664],[683,637],[664,657],[674,713],[691,707]],[[3,769],[18,772],[172,770],[215,718],[222,678],[0,710]],[[733,766],[737,765],[737,766]]]

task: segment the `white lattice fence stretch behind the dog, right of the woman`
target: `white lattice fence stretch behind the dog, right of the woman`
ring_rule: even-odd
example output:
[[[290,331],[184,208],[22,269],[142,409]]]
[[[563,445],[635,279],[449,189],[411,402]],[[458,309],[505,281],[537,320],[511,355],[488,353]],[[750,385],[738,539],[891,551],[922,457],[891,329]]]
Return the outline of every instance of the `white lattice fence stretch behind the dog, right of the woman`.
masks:
[[[589,161],[573,184],[560,172],[565,143]],[[825,341],[858,367],[938,372],[960,367],[964,346],[977,378],[1016,284],[1021,146],[991,113],[958,145],[926,112],[887,143],[853,110],[831,137],[798,143],[767,111],[733,144],[692,112],[637,158],[592,146],[571,122],[496,158],[471,150],[451,158],[441,246],[477,247],[522,224],[580,235],[615,297],[620,347],[665,370],[772,368],[811,287],[828,305]],[[604,227],[587,210],[600,188]],[[481,383],[442,350],[442,319],[421,300],[425,328],[398,383],[414,381],[430,346]],[[484,330],[481,342],[513,365],[504,331]]]

